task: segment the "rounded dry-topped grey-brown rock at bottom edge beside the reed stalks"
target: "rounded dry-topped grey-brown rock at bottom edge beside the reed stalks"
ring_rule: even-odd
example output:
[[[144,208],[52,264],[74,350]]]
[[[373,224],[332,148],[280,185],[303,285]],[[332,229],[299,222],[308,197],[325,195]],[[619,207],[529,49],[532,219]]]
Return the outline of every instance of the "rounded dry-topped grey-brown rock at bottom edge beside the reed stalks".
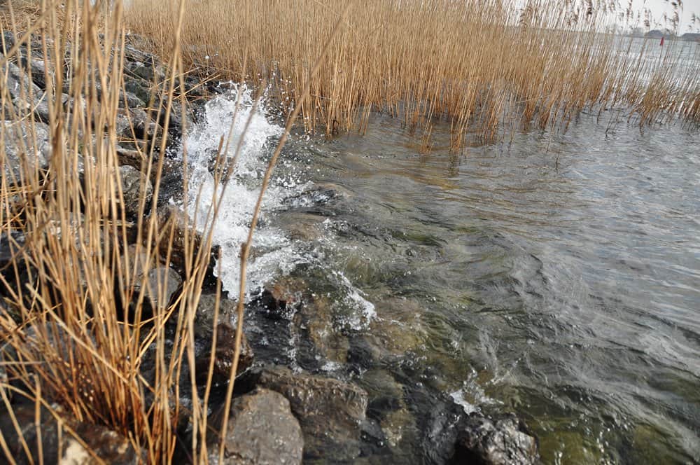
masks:
[[[299,422],[284,396],[255,389],[233,401],[224,464],[300,464],[303,448]]]

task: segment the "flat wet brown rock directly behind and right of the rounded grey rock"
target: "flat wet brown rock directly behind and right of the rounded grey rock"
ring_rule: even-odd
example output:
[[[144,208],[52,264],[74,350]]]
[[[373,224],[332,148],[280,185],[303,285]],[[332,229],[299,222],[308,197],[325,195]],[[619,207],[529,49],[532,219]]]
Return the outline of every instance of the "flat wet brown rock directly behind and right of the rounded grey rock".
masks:
[[[244,383],[288,398],[304,432],[304,458],[352,460],[360,454],[367,393],[332,378],[293,373],[288,368],[253,368]]]

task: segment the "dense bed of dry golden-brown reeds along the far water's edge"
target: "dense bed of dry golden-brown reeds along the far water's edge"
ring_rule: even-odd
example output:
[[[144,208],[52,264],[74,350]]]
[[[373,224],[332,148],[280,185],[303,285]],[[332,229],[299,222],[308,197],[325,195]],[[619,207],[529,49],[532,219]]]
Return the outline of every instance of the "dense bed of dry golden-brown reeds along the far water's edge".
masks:
[[[640,124],[700,116],[699,56],[684,67],[667,41],[651,60],[657,41],[640,48],[608,34],[643,20],[617,2],[193,1],[183,58],[191,69],[262,79],[272,97],[294,102],[344,3],[344,29],[302,102],[307,130],[361,132],[370,112],[384,111],[426,140],[447,120],[458,148],[467,134],[493,140],[514,127],[566,126],[589,108],[621,109]],[[175,11],[172,0],[133,0],[125,16],[165,52]]]

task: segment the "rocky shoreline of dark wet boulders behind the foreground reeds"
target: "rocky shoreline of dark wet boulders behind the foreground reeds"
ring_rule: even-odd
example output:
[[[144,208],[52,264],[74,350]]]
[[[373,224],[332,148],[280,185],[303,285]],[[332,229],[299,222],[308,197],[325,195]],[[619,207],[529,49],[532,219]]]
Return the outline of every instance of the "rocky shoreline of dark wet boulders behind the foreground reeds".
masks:
[[[6,49],[15,43],[15,36],[5,33],[3,40]],[[124,64],[124,91],[120,95],[120,114],[118,116],[118,135],[126,141],[120,141],[116,148],[119,157],[120,175],[123,183],[123,195],[127,216],[132,220],[138,214],[139,200],[145,194],[153,195],[153,179],[147,179],[147,174],[141,172],[143,160],[141,152],[137,151],[137,144],[162,137],[165,126],[165,109],[158,109],[154,118],[149,118],[146,111],[151,101],[152,83],[162,81],[166,76],[166,67],[158,60],[158,57],[146,53],[137,48],[138,37],[130,36],[125,48]],[[38,45],[38,44],[37,44]],[[41,50],[41,46],[31,47]],[[4,53],[5,50],[0,50]],[[20,50],[22,60],[15,62],[10,60],[3,67],[3,74],[8,76],[3,83],[10,91],[12,104],[15,108],[33,109],[38,123],[35,136],[40,142],[41,149],[36,151],[35,158],[27,160],[31,166],[39,169],[48,167],[51,157],[50,131],[48,128],[48,103],[45,102],[45,64],[38,55],[33,55],[26,48]],[[31,80],[26,74],[31,70]],[[183,127],[192,127],[197,120],[197,106],[200,105],[209,92],[218,92],[215,86],[200,82],[192,76],[186,80],[186,92],[192,99],[186,113],[186,120],[181,118],[181,109],[174,109],[168,123],[169,149],[176,149],[182,137]],[[31,88],[31,95],[35,96],[33,102],[25,99]],[[67,89],[61,95],[62,104],[68,108],[73,104]],[[130,123],[132,122],[132,123]],[[16,130],[16,125],[10,128],[10,122],[3,122],[8,130]],[[132,132],[133,126],[133,132]],[[27,127],[21,127],[22,136],[29,137]],[[20,170],[21,148],[11,138],[6,138],[4,150],[10,163],[3,167],[9,176],[18,176]],[[156,144],[158,146],[158,144]],[[177,186],[181,180],[181,172],[175,160],[169,160],[166,153],[155,153],[156,157],[164,157],[166,171],[162,183],[169,186]],[[164,181],[165,180],[165,181]],[[181,183],[179,184],[181,186]],[[145,186],[145,193],[141,190]],[[146,280],[157,283],[167,276],[168,289],[165,299],[151,296],[146,292],[144,306],[148,312],[159,312],[165,309],[170,302],[177,298],[181,283],[185,278],[183,270],[183,251],[177,248],[177,237],[184,235],[182,229],[183,212],[169,205],[165,200],[177,195],[176,192],[164,188],[161,190],[158,211],[147,212],[158,216],[158,222],[162,225],[175,225],[175,249],[169,261],[165,256],[153,269],[148,270]],[[161,201],[162,200],[162,201]],[[76,212],[76,221],[79,213]],[[193,233],[193,232],[190,232]],[[3,232],[3,235],[5,233]],[[15,242],[22,243],[22,237],[14,237]],[[138,238],[132,238],[134,243]],[[133,262],[138,260],[134,243],[125,244],[123,254],[129,255]],[[6,269],[13,253],[8,248],[6,237],[0,238],[0,269]],[[144,262],[146,260],[143,260]],[[31,274],[30,274],[31,275]],[[27,274],[15,275],[3,272],[3,277],[13,286],[22,286]],[[228,382],[230,368],[235,354],[235,301],[223,298],[220,307],[218,321],[213,321],[216,294],[211,283],[216,282],[214,276],[209,273],[210,282],[204,289],[197,307],[195,317],[195,338],[200,352],[195,354],[197,373],[206,373],[206,368],[214,356],[214,392],[212,398],[223,399],[225,387]],[[304,324],[313,327],[319,318],[323,318],[323,312],[318,311],[318,303],[314,303],[303,288],[302,282],[287,282],[286,286],[279,283],[271,283],[262,292],[261,297],[251,303],[251,311],[256,312],[260,318],[267,319],[269,326],[274,328],[276,321],[286,321],[299,314],[304,318]],[[155,287],[155,285],[153,286]],[[0,286],[0,297],[8,298],[10,290]],[[135,294],[138,295],[138,289]],[[6,308],[0,299],[0,312],[12,314],[11,308]],[[135,305],[135,303],[132,303]],[[128,307],[129,305],[125,305]],[[307,306],[307,308],[304,308]],[[299,318],[299,317],[297,317]],[[218,334],[217,350],[209,354],[213,328],[216,326]],[[332,377],[309,373],[294,367],[290,369],[276,363],[274,357],[255,356],[254,348],[260,342],[255,340],[258,334],[248,331],[244,327],[247,338],[244,337],[239,359],[237,381],[235,383],[235,397],[228,419],[227,435],[225,442],[225,463],[231,464],[299,464],[302,461],[309,463],[365,463],[369,462],[370,455],[381,455],[386,451],[387,444],[392,443],[392,433],[386,431],[381,424],[381,415],[374,415],[372,407],[381,402],[395,402],[404,405],[402,390],[399,388],[395,399],[372,398],[365,389],[348,380],[338,380]],[[319,350],[328,353],[343,352],[349,359],[353,351],[358,347],[334,347],[325,344],[321,338],[314,338],[309,331],[309,344],[315,345]],[[250,341],[248,341],[250,340]],[[26,343],[32,344],[31,338]],[[70,354],[70,348],[66,347],[66,356]],[[0,357],[4,361],[12,358],[12,351],[3,349]],[[155,355],[153,356],[155,359]],[[188,369],[183,369],[181,377],[181,403],[191,404],[193,393],[189,386]],[[141,375],[145,380],[155,379],[155,361],[149,363],[148,354],[141,366]],[[4,378],[3,378],[4,376]],[[6,380],[4,371],[0,366],[0,380]],[[206,379],[201,380],[202,384]],[[129,441],[114,431],[109,431],[104,426],[91,425],[80,422],[64,412],[61,422],[52,417],[48,411],[35,411],[34,403],[23,403],[22,399],[10,396],[11,391],[6,389],[10,398],[13,415],[4,407],[0,407],[0,431],[7,443],[8,450],[15,458],[24,457],[24,441],[16,434],[15,421],[20,425],[25,435],[25,441],[29,445],[31,453],[37,457],[36,431],[41,430],[41,449],[47,463],[58,463],[62,460],[72,459],[71,463],[92,463],[94,457],[86,452],[86,448],[94,451],[97,457],[111,464],[136,464],[143,460],[143,451],[134,450]],[[188,399],[189,396],[189,399]],[[464,463],[464,464],[533,464],[538,461],[537,441],[528,433],[526,426],[513,415],[502,415],[496,418],[471,413],[465,414],[461,407],[448,399],[435,398],[435,418],[432,418],[417,426],[421,429],[421,437],[426,441],[426,455],[416,458],[416,461],[425,463]],[[216,444],[220,438],[216,431],[221,429],[221,409],[223,403],[214,405],[211,409],[211,451],[216,450]],[[1,404],[0,404],[1,405]],[[410,410],[408,407],[405,409]],[[58,408],[57,411],[61,411]],[[78,436],[83,438],[84,444],[80,444],[61,434],[59,423],[68,425]],[[190,425],[187,418],[181,418],[179,431],[181,438],[176,452],[178,463],[188,461],[190,451],[188,447],[192,441],[188,437]],[[394,441],[395,442],[395,441]],[[215,460],[212,453],[212,460]]]

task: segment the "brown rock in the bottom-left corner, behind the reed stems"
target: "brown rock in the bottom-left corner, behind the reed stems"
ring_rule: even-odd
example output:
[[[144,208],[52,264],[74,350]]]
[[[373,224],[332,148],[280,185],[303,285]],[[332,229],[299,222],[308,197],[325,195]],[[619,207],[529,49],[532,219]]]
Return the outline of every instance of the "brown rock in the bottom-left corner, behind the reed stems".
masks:
[[[46,408],[41,408],[39,422],[36,422],[34,404],[15,405],[14,415],[21,427],[22,436],[29,447],[31,458],[27,457],[22,440],[18,435],[8,412],[0,415],[0,431],[8,450],[18,464],[39,463],[37,429],[41,431],[41,454],[45,464],[98,464],[130,465],[143,463],[145,454],[134,450],[124,436],[105,426],[78,422],[69,417],[57,406],[54,410],[62,417],[63,424],[69,426],[85,443],[87,449],[69,431],[62,427]],[[99,459],[95,459],[91,450]]]

